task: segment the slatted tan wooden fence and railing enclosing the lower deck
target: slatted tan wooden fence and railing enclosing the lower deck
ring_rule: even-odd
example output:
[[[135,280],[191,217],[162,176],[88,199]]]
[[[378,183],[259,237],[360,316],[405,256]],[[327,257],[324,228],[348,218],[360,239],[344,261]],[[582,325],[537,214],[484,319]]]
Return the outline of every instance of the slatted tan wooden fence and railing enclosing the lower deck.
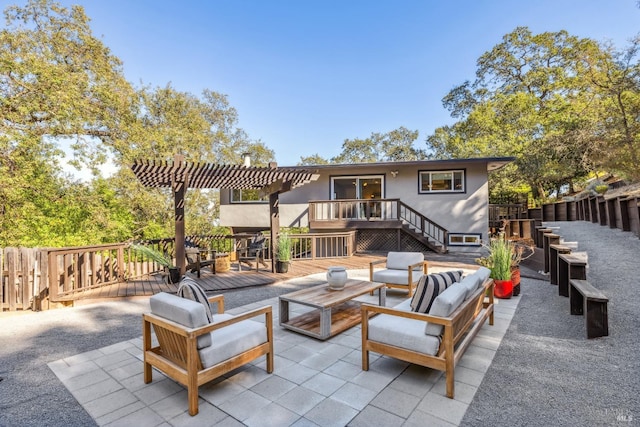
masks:
[[[190,236],[205,250],[233,253],[252,234]],[[355,253],[355,232],[291,234],[292,258],[349,257]],[[174,239],[141,242],[171,257]],[[265,258],[271,258],[269,236]],[[175,264],[175,258],[174,258]],[[129,243],[67,248],[0,248],[0,311],[45,309],[41,302],[63,302],[71,294],[114,283],[126,283],[164,268],[130,248]]]

